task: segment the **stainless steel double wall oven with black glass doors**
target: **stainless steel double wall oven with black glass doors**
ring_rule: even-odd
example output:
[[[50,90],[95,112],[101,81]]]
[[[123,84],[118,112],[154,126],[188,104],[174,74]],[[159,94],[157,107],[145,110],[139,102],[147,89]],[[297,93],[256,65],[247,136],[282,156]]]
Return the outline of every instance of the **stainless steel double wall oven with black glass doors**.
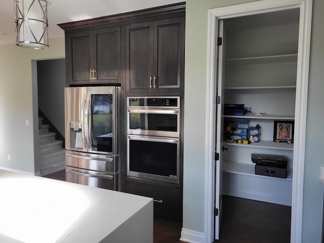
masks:
[[[180,97],[128,97],[127,104],[127,176],[179,184]]]

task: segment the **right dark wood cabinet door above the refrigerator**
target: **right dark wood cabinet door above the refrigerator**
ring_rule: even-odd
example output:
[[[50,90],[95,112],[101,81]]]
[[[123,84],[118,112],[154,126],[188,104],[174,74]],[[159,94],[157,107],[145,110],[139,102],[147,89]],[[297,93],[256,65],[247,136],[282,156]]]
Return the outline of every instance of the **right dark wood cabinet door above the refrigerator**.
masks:
[[[94,39],[94,83],[120,83],[120,27],[97,29]]]

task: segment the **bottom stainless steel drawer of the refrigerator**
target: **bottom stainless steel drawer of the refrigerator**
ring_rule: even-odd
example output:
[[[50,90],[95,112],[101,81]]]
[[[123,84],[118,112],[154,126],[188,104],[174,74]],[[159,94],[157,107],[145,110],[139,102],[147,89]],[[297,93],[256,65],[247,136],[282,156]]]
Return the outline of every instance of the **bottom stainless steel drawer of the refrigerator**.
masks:
[[[65,168],[65,175],[68,182],[118,190],[118,173],[91,171],[67,166]]]

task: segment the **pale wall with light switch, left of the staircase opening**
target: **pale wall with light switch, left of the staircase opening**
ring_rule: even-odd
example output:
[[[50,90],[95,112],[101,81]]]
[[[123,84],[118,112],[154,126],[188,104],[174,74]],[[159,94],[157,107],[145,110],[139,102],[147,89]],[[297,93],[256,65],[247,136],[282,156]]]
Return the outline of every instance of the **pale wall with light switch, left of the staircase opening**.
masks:
[[[32,60],[64,57],[63,37],[50,39],[47,50],[0,46],[0,168],[34,174]]]

